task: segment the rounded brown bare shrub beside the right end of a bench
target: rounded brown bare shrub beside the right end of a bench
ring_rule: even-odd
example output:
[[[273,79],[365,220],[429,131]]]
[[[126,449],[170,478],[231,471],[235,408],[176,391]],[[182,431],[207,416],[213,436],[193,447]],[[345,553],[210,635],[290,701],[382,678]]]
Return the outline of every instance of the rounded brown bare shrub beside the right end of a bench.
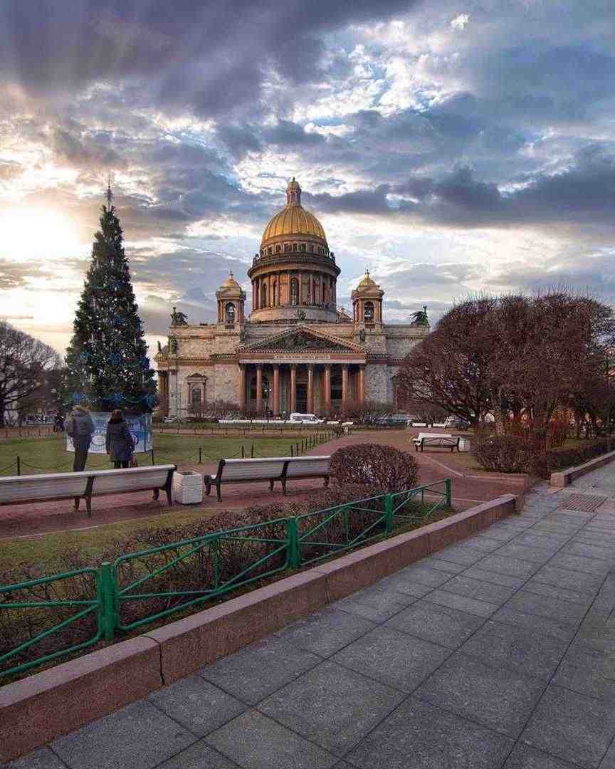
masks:
[[[331,456],[331,475],[339,484],[369,486],[374,493],[417,485],[418,465],[409,451],[364,444],[339,448]]]

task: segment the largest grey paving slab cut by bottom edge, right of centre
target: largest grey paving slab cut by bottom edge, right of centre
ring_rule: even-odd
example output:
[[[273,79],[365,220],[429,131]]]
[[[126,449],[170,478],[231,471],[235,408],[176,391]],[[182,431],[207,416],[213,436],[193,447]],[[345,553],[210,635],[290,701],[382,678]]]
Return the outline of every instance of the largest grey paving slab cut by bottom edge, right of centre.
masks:
[[[514,741],[416,697],[347,756],[360,769],[497,769]]]

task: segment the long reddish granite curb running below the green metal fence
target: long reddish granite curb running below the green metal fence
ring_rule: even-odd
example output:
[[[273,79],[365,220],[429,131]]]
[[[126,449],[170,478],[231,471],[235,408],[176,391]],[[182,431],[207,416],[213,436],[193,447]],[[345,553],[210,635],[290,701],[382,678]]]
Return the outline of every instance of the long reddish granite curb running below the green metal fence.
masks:
[[[407,534],[293,574],[137,638],[0,687],[0,762],[35,750],[204,664],[307,617],[449,544],[508,518],[502,496]]]

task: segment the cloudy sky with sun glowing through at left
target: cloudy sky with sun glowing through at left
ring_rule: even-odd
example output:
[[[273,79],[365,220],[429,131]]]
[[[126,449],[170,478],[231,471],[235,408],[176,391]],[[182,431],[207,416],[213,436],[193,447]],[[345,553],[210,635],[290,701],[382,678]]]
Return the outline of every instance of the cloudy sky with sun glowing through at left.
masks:
[[[342,305],[615,301],[614,85],[612,0],[4,2],[0,318],[64,350],[109,172],[150,341],[249,288],[291,176]]]

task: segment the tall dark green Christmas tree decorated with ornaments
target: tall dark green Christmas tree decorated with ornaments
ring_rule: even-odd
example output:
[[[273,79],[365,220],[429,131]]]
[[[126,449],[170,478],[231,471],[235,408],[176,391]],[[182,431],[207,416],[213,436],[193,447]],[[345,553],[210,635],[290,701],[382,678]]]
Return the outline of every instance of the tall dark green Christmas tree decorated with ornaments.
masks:
[[[66,354],[65,391],[71,403],[88,403],[94,411],[150,412],[157,403],[154,371],[111,191],[108,203],[102,206]]]

